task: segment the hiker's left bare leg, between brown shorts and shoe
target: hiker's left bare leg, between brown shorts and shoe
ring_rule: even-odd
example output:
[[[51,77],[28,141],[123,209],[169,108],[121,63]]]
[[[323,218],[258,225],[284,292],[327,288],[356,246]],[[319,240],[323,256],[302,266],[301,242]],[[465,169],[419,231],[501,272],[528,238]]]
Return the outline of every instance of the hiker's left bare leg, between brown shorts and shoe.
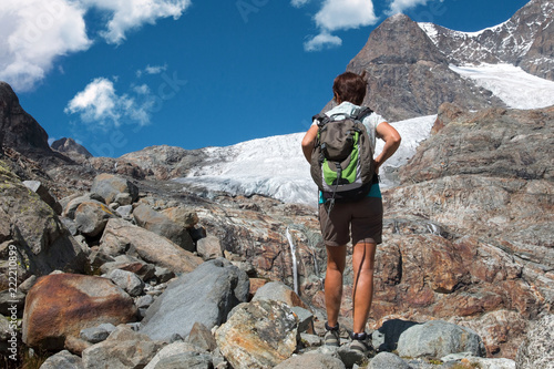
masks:
[[[342,299],[342,273],[346,265],[346,246],[327,246],[327,273],[325,276],[325,306],[327,322],[331,327],[338,324],[340,301]]]

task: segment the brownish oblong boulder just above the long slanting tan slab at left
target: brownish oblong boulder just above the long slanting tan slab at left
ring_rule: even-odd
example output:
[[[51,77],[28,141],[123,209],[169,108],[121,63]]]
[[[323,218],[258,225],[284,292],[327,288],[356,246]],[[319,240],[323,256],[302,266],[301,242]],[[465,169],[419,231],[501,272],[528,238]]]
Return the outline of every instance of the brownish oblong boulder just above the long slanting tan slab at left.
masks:
[[[133,211],[133,217],[141,227],[166,237],[188,252],[194,252],[194,243],[186,228],[148,205],[136,206]]]

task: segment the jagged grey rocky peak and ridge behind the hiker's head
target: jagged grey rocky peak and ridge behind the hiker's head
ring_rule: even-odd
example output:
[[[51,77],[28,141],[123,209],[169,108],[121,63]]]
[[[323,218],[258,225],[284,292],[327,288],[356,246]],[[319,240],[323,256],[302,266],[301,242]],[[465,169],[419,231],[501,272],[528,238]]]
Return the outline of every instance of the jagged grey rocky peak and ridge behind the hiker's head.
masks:
[[[465,110],[504,106],[449,65],[510,63],[553,80],[553,12],[552,1],[533,0],[509,21],[475,33],[397,14],[370,34],[347,70],[369,72],[365,103],[392,122],[434,114],[443,102]]]

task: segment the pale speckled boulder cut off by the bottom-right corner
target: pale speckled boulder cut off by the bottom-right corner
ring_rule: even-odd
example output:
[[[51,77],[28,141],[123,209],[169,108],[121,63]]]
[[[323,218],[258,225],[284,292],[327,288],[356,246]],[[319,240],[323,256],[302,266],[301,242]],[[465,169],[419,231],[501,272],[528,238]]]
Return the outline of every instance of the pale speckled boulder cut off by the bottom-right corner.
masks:
[[[554,368],[554,315],[531,324],[515,357],[516,369]]]

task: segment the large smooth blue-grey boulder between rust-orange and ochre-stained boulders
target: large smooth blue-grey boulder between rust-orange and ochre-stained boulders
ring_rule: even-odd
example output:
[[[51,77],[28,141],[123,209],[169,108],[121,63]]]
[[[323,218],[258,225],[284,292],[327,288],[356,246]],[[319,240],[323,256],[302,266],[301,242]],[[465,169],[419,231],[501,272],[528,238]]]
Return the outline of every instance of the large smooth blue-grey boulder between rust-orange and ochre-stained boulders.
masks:
[[[146,310],[141,331],[152,339],[185,338],[196,321],[207,328],[220,325],[227,314],[248,298],[246,273],[218,258],[173,281]]]

